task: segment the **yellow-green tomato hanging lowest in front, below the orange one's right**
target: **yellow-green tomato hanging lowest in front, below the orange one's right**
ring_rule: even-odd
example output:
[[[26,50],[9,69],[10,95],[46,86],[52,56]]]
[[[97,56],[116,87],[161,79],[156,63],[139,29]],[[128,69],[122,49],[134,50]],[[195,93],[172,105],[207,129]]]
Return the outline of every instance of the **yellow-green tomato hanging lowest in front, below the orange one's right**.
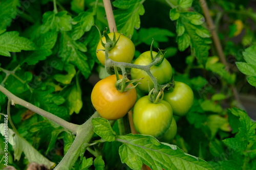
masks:
[[[134,128],[140,134],[161,136],[169,128],[172,118],[172,107],[166,101],[154,104],[145,95],[134,105]]]

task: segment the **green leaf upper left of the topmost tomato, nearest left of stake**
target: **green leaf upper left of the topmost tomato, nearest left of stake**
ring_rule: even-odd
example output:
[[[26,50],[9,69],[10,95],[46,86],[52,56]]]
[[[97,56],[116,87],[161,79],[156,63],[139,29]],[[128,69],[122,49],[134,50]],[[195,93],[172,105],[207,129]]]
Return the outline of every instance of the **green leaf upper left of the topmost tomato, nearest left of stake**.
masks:
[[[95,12],[88,10],[86,12],[79,13],[78,16],[73,18],[72,23],[74,28],[72,30],[72,38],[74,40],[81,38],[85,32],[91,30],[94,25],[94,15]]]

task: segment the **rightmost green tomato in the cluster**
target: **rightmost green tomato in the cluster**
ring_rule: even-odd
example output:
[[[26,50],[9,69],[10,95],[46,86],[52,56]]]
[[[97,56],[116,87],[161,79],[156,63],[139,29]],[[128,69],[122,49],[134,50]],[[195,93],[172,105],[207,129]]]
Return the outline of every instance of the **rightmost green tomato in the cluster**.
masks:
[[[175,81],[174,89],[164,91],[163,100],[172,106],[174,115],[184,116],[193,105],[194,93],[185,83]]]

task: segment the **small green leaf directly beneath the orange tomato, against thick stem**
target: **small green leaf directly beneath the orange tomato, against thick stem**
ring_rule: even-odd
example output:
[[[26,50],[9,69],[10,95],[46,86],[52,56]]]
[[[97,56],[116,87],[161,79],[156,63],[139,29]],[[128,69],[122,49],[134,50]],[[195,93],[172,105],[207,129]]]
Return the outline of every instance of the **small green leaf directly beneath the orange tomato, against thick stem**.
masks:
[[[116,132],[113,131],[111,125],[107,119],[93,118],[92,124],[94,126],[94,132],[106,141],[114,141],[116,138]]]

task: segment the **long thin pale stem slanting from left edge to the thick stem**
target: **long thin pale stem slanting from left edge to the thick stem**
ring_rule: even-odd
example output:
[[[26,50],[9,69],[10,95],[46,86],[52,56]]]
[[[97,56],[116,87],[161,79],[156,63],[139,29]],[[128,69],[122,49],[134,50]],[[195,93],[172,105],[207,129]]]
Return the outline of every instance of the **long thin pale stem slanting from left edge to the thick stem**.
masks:
[[[52,120],[53,122],[59,124],[61,127],[66,128],[71,132],[77,131],[78,125],[69,123],[66,120],[64,120],[50,112],[42,110],[39,107],[36,107],[35,105],[32,105],[31,103],[28,103],[28,102],[18,98],[16,95],[12,94],[10,91],[8,91],[5,87],[3,87],[1,85],[0,85],[0,91],[2,91],[11,100],[12,105],[18,104],[18,105],[24,106],[24,107],[28,108],[29,110]]]

